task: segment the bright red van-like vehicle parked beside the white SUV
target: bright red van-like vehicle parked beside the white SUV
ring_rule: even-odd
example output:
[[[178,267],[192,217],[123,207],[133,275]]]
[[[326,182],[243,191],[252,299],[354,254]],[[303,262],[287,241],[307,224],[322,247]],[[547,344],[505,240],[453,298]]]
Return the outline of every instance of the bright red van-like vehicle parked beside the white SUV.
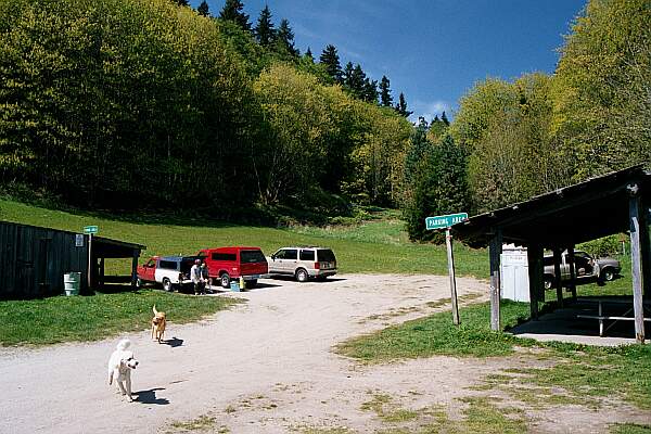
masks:
[[[219,279],[222,288],[229,288],[231,279],[242,277],[246,286],[253,288],[257,280],[269,272],[267,258],[260,247],[217,247],[199,251],[205,260],[210,279]]]

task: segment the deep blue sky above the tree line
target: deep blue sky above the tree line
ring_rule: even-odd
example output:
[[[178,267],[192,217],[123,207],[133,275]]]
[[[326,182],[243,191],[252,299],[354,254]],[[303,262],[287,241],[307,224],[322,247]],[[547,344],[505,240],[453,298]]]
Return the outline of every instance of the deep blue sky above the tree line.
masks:
[[[276,26],[290,21],[295,44],[318,60],[328,43],[342,66],[359,63],[372,79],[405,93],[412,118],[454,117],[459,99],[487,77],[511,80],[553,72],[586,0],[242,0],[253,25],[269,5]],[[196,7],[201,0],[191,0]],[[208,0],[218,15],[225,0]]]

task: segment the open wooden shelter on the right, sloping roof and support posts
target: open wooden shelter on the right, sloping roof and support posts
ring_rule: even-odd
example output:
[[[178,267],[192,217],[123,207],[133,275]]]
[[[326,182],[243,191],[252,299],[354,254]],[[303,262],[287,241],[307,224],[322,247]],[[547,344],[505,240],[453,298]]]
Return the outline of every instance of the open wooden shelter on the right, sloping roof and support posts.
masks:
[[[633,308],[638,342],[644,342],[643,303],[651,299],[651,173],[642,165],[546,193],[529,201],[481,214],[452,227],[455,234],[471,245],[488,245],[490,260],[490,326],[500,329],[500,254],[502,243],[527,247],[532,317],[544,302],[544,251],[561,253],[578,243],[614,233],[630,233]],[[572,260],[572,259],[571,259]],[[571,267],[573,271],[574,267]],[[562,305],[560,269],[554,286]],[[575,276],[571,290],[576,296]]]

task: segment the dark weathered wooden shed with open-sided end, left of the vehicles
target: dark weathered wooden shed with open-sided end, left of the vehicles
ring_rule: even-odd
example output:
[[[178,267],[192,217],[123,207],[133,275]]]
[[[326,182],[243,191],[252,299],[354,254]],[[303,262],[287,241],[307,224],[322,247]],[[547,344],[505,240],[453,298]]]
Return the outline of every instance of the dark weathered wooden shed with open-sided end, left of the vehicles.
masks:
[[[143,245],[50,228],[0,221],[0,298],[34,298],[62,294],[63,276],[81,273],[80,292],[99,288],[105,258],[130,258],[131,272],[123,280],[136,284]],[[90,268],[90,272],[89,272]]]

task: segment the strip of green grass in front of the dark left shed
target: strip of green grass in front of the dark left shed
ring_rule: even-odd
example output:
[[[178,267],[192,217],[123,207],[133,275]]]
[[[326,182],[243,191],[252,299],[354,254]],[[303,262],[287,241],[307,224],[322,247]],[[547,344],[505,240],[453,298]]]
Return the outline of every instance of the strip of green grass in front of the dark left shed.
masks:
[[[0,345],[97,341],[139,332],[151,327],[154,304],[167,314],[168,321],[178,324],[196,321],[233,303],[233,298],[153,290],[0,302]]]

